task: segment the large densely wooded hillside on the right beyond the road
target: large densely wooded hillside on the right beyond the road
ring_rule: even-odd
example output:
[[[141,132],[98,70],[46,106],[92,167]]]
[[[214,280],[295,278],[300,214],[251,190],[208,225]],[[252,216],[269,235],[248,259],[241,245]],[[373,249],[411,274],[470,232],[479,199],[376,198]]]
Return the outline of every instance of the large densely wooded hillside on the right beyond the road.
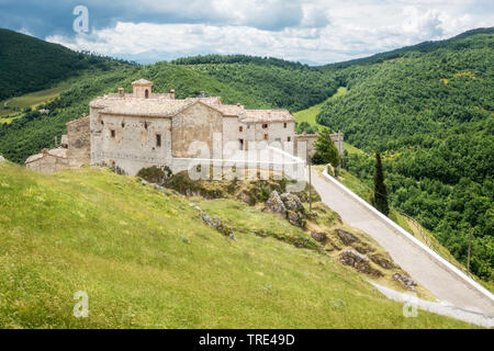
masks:
[[[493,29],[329,70],[348,92],[322,107],[318,123],[341,129],[369,154],[380,149],[393,205],[433,230],[463,263],[471,229],[472,270],[492,281]],[[350,171],[369,183],[372,162],[347,158]]]

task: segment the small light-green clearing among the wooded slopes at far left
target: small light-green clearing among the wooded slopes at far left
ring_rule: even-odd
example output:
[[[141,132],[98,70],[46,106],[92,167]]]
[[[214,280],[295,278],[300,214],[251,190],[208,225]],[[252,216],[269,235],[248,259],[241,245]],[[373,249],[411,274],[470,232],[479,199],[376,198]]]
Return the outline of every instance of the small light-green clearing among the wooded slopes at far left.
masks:
[[[38,104],[50,101],[58,97],[63,91],[70,88],[69,81],[64,81],[54,88],[27,93],[22,97],[11,98],[0,102],[0,123],[10,123],[12,117],[1,118],[1,116],[16,115],[26,107],[36,107]]]

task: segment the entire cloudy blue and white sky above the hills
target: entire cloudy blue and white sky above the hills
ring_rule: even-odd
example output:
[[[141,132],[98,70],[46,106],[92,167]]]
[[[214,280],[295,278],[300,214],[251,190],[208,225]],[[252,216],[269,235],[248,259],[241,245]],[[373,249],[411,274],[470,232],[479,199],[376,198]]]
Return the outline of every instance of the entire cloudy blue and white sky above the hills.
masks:
[[[143,64],[245,54],[322,65],[490,26],[492,0],[0,0],[0,27]]]

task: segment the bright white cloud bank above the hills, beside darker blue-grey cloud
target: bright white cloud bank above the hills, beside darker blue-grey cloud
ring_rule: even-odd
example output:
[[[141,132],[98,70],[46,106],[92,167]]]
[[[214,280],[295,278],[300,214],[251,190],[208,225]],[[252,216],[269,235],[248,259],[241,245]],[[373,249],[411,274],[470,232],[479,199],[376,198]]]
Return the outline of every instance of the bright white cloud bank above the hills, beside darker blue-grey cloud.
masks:
[[[171,11],[157,2],[147,2],[156,11]],[[74,49],[119,57],[146,57],[147,53],[149,57],[169,59],[218,53],[326,64],[494,24],[494,13],[472,10],[478,3],[473,0],[427,3],[422,0],[351,3],[300,0],[287,3],[281,0],[213,0],[209,10],[215,21],[211,23],[120,21],[88,35],[54,35],[47,39]],[[198,2],[193,5],[198,7]],[[186,11],[190,15],[190,8]]]

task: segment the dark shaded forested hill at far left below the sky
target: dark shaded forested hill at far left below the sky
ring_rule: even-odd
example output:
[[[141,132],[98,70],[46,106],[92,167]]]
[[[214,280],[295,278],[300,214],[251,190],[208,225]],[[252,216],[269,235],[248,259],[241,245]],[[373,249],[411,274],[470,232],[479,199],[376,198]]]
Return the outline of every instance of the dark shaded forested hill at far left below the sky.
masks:
[[[0,29],[0,101],[48,88],[91,67],[109,69],[115,63]]]

